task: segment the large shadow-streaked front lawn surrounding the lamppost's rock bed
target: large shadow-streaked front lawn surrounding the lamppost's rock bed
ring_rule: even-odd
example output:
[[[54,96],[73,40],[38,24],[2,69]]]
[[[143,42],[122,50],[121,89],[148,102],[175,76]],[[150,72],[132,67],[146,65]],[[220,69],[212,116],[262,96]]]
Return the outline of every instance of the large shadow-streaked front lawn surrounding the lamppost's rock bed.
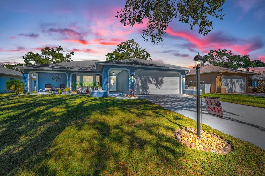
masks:
[[[227,155],[182,146],[196,121],[147,100],[1,94],[0,175],[264,175],[265,150],[207,125]]]

